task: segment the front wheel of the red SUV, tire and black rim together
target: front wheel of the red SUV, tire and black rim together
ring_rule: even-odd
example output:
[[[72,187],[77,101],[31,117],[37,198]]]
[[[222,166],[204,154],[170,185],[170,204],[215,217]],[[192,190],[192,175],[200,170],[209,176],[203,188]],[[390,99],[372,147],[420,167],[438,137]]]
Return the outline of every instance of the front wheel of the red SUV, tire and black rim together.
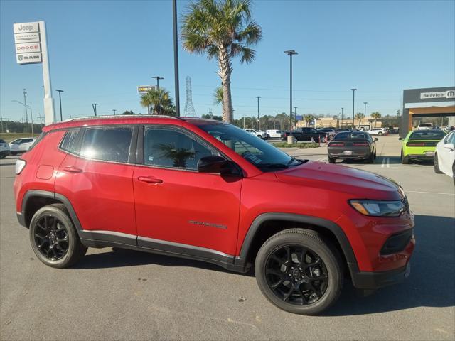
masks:
[[[278,256],[281,252],[283,259]],[[304,261],[298,261],[299,257]],[[289,313],[316,315],[335,303],[341,293],[340,259],[336,248],[316,232],[286,229],[267,239],[259,249],[255,261],[257,285],[278,308]]]

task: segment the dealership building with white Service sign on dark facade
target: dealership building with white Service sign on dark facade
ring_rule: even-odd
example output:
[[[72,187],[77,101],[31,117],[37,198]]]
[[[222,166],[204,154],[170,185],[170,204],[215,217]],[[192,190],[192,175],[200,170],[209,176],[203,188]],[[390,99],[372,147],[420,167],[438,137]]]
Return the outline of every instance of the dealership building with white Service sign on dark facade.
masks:
[[[400,136],[412,130],[412,119],[424,117],[449,117],[455,120],[455,87],[427,87],[403,90],[403,107]]]

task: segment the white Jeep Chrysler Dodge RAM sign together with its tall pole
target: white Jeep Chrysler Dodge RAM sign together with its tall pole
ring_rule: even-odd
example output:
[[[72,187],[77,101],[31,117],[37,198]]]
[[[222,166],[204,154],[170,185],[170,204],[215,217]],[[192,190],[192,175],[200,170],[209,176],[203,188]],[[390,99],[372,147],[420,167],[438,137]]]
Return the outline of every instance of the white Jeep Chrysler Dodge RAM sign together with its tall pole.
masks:
[[[55,112],[52,87],[50,85],[50,68],[45,22],[14,23],[13,29],[16,62],[18,64],[40,63],[43,65],[45,124],[53,124],[55,122]]]

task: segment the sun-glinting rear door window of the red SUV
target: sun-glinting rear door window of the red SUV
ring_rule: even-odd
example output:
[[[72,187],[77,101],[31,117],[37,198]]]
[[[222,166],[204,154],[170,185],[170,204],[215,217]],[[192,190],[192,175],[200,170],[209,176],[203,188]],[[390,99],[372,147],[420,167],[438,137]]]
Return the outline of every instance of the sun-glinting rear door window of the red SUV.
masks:
[[[133,131],[132,126],[86,128],[80,147],[80,156],[101,161],[127,163]]]

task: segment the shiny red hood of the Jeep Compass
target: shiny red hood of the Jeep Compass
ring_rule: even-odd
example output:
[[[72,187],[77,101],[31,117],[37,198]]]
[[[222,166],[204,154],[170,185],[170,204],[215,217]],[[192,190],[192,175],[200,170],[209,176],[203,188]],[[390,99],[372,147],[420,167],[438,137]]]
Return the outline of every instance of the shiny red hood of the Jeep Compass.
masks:
[[[381,175],[347,166],[307,161],[275,173],[278,180],[353,195],[353,198],[400,200],[400,185]]]

